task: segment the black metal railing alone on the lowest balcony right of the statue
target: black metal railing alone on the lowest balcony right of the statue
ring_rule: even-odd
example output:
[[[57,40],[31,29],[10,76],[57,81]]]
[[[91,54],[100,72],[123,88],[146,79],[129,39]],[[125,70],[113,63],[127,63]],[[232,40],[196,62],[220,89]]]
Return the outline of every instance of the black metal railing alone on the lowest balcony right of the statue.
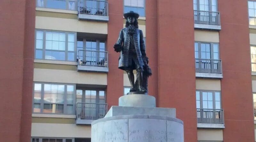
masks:
[[[197,108],[197,123],[224,123],[223,109]]]

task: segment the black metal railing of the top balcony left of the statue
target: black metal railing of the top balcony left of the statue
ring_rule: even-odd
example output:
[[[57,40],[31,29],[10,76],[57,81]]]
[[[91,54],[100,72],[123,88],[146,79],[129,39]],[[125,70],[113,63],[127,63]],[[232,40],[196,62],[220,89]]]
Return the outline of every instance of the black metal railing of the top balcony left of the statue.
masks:
[[[81,14],[108,16],[108,1],[78,0],[77,11]]]

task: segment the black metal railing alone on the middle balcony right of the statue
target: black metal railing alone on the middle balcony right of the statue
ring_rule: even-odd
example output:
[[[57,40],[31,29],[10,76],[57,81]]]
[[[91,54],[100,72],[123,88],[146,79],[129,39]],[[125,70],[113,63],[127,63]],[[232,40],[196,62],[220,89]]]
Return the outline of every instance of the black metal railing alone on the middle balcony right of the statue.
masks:
[[[202,73],[222,73],[221,60],[196,59],[196,72]]]

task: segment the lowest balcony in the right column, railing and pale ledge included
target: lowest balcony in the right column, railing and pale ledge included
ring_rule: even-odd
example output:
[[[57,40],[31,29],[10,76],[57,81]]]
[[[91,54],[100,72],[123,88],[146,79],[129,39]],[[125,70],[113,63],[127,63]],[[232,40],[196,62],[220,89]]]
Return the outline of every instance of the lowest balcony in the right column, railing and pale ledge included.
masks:
[[[223,109],[197,108],[198,128],[225,128]]]

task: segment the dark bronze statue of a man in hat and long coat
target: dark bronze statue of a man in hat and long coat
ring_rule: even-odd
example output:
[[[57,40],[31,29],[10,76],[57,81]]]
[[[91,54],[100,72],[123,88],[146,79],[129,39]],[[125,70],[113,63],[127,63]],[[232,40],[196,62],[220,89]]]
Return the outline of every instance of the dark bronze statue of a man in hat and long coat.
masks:
[[[120,52],[118,68],[128,74],[131,83],[131,92],[148,93],[148,76],[151,69],[148,66],[143,33],[138,29],[139,14],[133,11],[124,13],[126,19],[125,28],[120,31],[118,40],[114,45],[116,52]],[[137,71],[137,80],[134,83],[133,70]]]

